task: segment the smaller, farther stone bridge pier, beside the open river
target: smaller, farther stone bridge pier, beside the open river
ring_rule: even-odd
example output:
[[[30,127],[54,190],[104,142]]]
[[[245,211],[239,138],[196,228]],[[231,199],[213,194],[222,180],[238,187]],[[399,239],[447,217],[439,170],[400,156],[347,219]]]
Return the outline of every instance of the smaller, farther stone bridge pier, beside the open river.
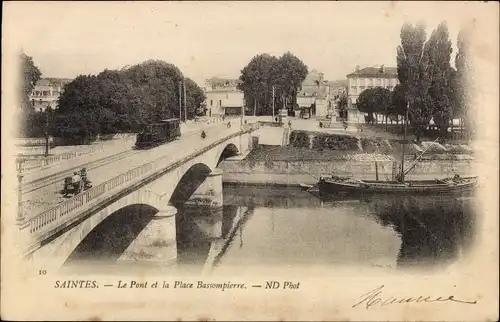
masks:
[[[187,206],[203,206],[219,208],[223,206],[222,198],[222,170],[214,169],[205,181],[196,189],[186,201]]]

